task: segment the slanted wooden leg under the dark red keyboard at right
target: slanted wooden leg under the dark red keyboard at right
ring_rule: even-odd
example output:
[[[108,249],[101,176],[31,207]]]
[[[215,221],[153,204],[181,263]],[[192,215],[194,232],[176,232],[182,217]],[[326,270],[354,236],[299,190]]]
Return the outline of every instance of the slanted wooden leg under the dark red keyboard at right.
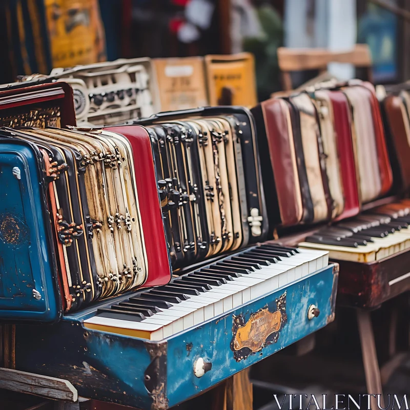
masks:
[[[371,313],[358,309],[357,324],[359,326],[367,394],[380,394],[380,405],[384,407],[380,368],[377,361],[376,344],[373,334]],[[371,398],[371,408],[378,408],[376,398]]]

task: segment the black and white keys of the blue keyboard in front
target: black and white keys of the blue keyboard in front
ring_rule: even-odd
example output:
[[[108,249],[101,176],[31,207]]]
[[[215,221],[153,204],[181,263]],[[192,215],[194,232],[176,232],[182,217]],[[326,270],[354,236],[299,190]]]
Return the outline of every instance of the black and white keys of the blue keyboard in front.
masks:
[[[326,267],[324,251],[262,244],[99,308],[89,329],[161,340]]]

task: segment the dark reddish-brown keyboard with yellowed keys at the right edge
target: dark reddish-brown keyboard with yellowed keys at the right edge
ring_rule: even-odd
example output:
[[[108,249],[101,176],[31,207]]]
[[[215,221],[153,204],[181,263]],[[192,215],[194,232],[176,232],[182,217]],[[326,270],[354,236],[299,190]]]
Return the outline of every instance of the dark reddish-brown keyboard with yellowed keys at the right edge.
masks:
[[[309,234],[299,246],[329,251],[340,265],[338,302],[376,308],[410,290],[410,208],[406,199]]]

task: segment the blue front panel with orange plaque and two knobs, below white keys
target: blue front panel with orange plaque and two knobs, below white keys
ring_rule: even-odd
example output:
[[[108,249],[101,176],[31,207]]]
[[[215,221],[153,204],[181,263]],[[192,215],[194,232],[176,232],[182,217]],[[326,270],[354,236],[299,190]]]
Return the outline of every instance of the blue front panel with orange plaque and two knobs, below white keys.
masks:
[[[198,394],[204,389],[215,385],[223,379],[240,372],[262,358],[289,346],[297,340],[319,330],[330,320],[333,320],[335,298],[332,298],[334,281],[332,266],[306,279],[265,295],[260,299],[223,315],[223,319],[213,319],[191,332],[176,335],[168,340],[168,380],[167,395],[170,406],[188,397]],[[276,310],[275,299],[286,290],[286,313],[288,322],[280,331],[277,343],[264,347],[260,352],[247,359],[236,362],[230,349],[232,339],[232,314],[244,314],[247,321],[266,305],[270,312]],[[308,319],[308,307],[315,304],[320,309],[320,315]],[[192,350],[187,351],[187,344],[192,343]],[[202,357],[212,362],[212,370],[197,378],[193,374],[193,363]]]

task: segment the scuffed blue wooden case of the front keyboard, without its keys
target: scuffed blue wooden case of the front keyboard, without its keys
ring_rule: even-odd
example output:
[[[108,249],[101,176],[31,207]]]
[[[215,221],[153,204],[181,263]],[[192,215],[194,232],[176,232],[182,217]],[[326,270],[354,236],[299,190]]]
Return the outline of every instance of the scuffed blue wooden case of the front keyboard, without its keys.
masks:
[[[152,408],[166,408],[167,404],[172,406],[191,398],[332,321],[337,289],[333,268],[329,265],[161,342],[86,330],[82,321],[90,316],[91,310],[66,316],[52,326],[18,325],[16,368],[67,379],[84,397],[141,409],[150,409],[154,401],[157,404]],[[230,348],[232,315],[242,313],[247,321],[252,313],[267,305],[274,312],[275,300],[284,291],[288,321],[277,343],[235,361]],[[309,320],[307,310],[311,304],[319,307],[320,315]],[[211,371],[201,378],[193,374],[193,363],[198,357],[213,363]],[[150,373],[151,382],[162,389],[157,388],[150,395],[144,373],[153,359],[157,361],[157,372]]]

